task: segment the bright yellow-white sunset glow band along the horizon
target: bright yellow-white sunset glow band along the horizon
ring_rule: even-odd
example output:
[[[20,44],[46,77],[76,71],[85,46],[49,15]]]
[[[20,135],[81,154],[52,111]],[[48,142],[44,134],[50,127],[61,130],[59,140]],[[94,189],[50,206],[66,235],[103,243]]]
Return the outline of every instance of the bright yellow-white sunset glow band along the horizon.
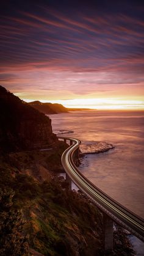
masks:
[[[16,95],[17,93],[15,93]],[[18,95],[17,95],[18,96]],[[24,99],[26,102],[32,100]],[[38,100],[38,99],[37,99]],[[77,98],[70,100],[40,100],[42,103],[59,103],[66,108],[89,108],[89,109],[143,109],[144,100],[121,99],[121,98]]]

